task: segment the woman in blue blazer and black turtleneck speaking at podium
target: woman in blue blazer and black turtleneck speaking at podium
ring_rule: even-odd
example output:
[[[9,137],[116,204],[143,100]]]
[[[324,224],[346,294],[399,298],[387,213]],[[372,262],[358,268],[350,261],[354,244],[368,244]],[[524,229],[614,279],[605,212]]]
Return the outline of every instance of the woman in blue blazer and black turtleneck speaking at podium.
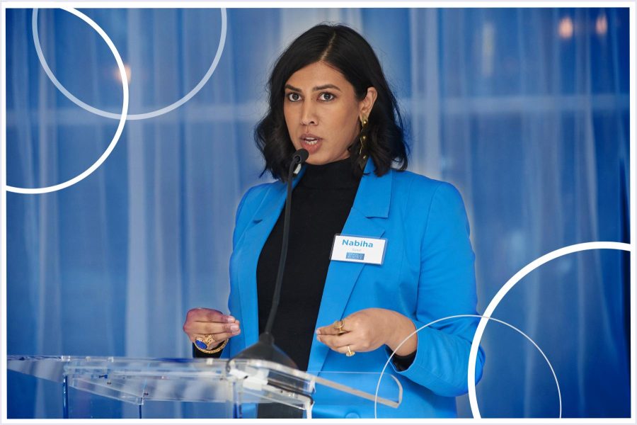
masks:
[[[190,341],[224,357],[257,341],[280,255],[287,169],[301,148],[309,159],[293,181],[289,254],[272,329],[299,369],[380,372],[418,327],[476,314],[461,197],[449,183],[404,171],[401,115],[369,43],[345,26],[315,26],[282,53],[268,86],[270,108],[255,135],[264,172],[278,181],[243,196],[230,261],[231,315],[190,310]],[[375,251],[380,263],[363,254],[334,257],[343,244],[363,242],[376,244],[368,254]],[[400,346],[391,373],[403,385],[403,402],[379,407],[379,417],[456,416],[475,329],[475,320],[450,319]],[[480,351],[478,379],[483,361]],[[374,416],[372,402],[315,402],[314,417]]]

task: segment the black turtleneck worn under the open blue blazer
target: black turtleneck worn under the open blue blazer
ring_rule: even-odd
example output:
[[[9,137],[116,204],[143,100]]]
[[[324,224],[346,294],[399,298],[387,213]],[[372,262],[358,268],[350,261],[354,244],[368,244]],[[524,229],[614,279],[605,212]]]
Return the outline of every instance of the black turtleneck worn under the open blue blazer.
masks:
[[[300,370],[307,369],[334,235],[343,230],[360,183],[360,176],[355,176],[350,159],[324,165],[306,164],[305,167],[305,174],[292,192],[285,274],[272,327],[275,344],[297,363]],[[259,256],[259,333],[265,328],[272,305],[281,254],[283,216],[282,212]]]

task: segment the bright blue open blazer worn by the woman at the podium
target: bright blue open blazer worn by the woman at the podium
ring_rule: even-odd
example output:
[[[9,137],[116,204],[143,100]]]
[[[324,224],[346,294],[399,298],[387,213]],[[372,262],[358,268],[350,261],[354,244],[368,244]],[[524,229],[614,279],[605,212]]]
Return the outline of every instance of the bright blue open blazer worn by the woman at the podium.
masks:
[[[394,310],[419,327],[454,314],[476,314],[474,252],[461,196],[454,186],[408,171],[374,174],[367,162],[354,205],[342,234],[384,238],[381,265],[331,261],[316,327],[332,324],[369,307]],[[304,170],[303,170],[304,171]],[[302,178],[303,171],[294,179]],[[241,334],[230,339],[224,357],[258,341],[256,268],[258,258],[285,204],[280,181],[251,188],[239,203],[230,260],[229,310],[241,321]],[[477,319],[449,319],[418,333],[411,366],[386,373],[403,387],[397,409],[378,405],[378,417],[455,417],[454,397],[466,393],[466,371]],[[391,352],[386,347],[347,357],[314,339],[308,372],[379,373]],[[484,353],[478,353],[476,377]],[[334,377],[334,375],[332,375]],[[374,394],[377,378],[340,382]],[[384,384],[391,382],[383,378]],[[382,394],[380,394],[382,395]],[[374,402],[336,404],[328,390],[317,388],[314,417],[374,417]]]

